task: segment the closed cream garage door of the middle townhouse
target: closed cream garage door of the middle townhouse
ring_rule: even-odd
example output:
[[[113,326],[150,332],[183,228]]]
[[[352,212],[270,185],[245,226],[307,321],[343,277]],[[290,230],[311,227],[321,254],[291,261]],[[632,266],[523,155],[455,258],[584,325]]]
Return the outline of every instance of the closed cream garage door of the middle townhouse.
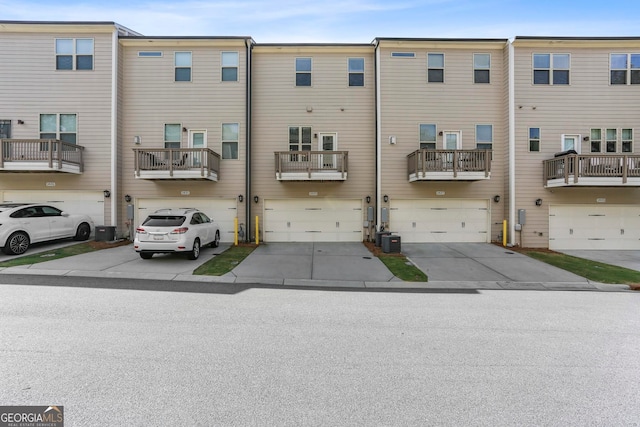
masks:
[[[266,242],[361,242],[362,201],[265,200]]]

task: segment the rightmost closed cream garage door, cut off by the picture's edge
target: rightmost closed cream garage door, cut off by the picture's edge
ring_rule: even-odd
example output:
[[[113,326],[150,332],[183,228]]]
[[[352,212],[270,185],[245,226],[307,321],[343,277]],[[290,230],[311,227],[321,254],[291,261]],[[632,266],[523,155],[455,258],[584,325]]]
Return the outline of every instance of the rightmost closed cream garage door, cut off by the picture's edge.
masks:
[[[640,206],[550,206],[549,249],[640,249]]]

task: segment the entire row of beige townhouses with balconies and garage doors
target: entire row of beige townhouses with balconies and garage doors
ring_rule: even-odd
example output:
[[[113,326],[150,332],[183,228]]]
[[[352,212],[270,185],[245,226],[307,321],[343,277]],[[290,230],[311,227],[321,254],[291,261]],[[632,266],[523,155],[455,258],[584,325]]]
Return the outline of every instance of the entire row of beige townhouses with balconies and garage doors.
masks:
[[[0,197],[132,237],[640,247],[639,38],[261,44],[0,22]],[[506,220],[506,234],[505,223]]]

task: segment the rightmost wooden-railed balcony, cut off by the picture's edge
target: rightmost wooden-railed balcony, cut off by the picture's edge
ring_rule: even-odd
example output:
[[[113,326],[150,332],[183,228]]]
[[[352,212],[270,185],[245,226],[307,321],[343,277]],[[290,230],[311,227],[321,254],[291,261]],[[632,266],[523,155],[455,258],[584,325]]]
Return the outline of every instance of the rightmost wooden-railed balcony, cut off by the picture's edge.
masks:
[[[640,155],[565,154],[543,161],[544,186],[640,187]]]

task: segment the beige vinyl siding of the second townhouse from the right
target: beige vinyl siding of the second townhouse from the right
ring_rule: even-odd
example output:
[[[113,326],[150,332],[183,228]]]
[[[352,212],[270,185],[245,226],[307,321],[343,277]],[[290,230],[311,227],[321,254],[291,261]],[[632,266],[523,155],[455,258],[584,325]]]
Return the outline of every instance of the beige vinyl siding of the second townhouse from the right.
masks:
[[[493,199],[504,195],[505,153],[508,148],[503,67],[505,44],[448,48],[446,43],[414,43],[411,48],[381,44],[382,188],[390,199]],[[415,52],[415,58],[394,58],[395,51]],[[427,83],[427,54],[444,53],[444,83]],[[491,53],[491,83],[473,83],[473,54]],[[461,131],[462,149],[475,149],[475,126],[493,125],[491,178],[475,182],[419,181],[407,177],[407,155],[419,149],[419,125],[437,125],[437,132]],[[396,144],[389,144],[389,137]],[[443,136],[436,137],[443,148]],[[438,196],[437,192],[444,192]],[[491,202],[491,240],[501,232],[504,198]],[[383,203],[383,207],[388,204]]]

